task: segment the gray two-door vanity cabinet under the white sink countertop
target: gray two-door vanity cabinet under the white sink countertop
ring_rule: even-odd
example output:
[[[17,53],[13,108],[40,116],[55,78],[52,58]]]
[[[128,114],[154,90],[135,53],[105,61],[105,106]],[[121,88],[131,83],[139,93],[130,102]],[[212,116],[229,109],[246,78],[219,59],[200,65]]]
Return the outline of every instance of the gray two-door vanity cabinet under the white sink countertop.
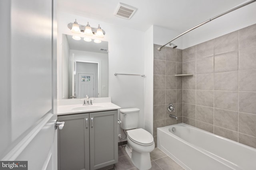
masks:
[[[58,170],[96,170],[118,162],[117,110],[60,115]]]

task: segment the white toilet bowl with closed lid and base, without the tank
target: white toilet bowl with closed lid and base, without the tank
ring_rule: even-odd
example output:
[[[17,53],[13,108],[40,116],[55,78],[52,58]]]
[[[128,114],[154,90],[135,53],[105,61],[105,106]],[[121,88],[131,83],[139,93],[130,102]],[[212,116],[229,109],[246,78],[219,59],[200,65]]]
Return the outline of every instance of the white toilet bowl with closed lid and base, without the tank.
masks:
[[[139,170],[149,170],[151,168],[150,152],[154,150],[155,143],[152,135],[144,129],[133,129],[127,131],[126,152],[132,160],[132,163]]]

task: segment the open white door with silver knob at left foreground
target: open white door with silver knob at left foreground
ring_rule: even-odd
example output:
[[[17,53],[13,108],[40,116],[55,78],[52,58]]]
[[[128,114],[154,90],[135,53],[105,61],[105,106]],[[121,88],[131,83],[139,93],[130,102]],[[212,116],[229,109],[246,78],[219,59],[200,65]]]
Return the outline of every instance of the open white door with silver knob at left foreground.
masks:
[[[55,7],[0,0],[0,160],[28,170],[57,169]]]

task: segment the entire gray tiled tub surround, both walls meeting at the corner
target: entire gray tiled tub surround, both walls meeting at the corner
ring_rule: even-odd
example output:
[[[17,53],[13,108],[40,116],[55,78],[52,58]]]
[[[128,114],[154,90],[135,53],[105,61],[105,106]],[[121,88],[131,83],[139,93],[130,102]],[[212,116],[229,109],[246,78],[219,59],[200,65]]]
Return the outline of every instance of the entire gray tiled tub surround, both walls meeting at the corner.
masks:
[[[184,123],[256,148],[256,24],[184,50],[158,47],[155,142],[157,127],[180,123],[183,116]],[[181,73],[193,76],[174,76]],[[176,103],[178,121],[169,118],[169,103]]]

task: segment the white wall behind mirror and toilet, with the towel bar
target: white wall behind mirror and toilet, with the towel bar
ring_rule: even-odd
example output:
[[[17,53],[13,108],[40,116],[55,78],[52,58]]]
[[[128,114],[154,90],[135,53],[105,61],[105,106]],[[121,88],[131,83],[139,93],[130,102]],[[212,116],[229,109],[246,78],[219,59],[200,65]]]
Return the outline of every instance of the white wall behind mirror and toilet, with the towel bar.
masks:
[[[144,74],[144,32],[103,21],[92,20],[64,12],[58,13],[58,59],[62,53],[62,34],[72,35],[67,25],[77,20],[79,24],[86,25],[89,21],[91,27],[98,24],[106,31],[102,39],[108,41],[109,61],[109,96],[112,102],[122,108],[137,107],[140,109],[139,127],[144,127],[144,82],[141,76],[114,76],[114,73]],[[58,64],[58,75],[61,73]],[[58,81],[58,93],[61,85]],[[122,133],[119,128],[118,133]],[[124,136],[124,134],[122,134]]]

